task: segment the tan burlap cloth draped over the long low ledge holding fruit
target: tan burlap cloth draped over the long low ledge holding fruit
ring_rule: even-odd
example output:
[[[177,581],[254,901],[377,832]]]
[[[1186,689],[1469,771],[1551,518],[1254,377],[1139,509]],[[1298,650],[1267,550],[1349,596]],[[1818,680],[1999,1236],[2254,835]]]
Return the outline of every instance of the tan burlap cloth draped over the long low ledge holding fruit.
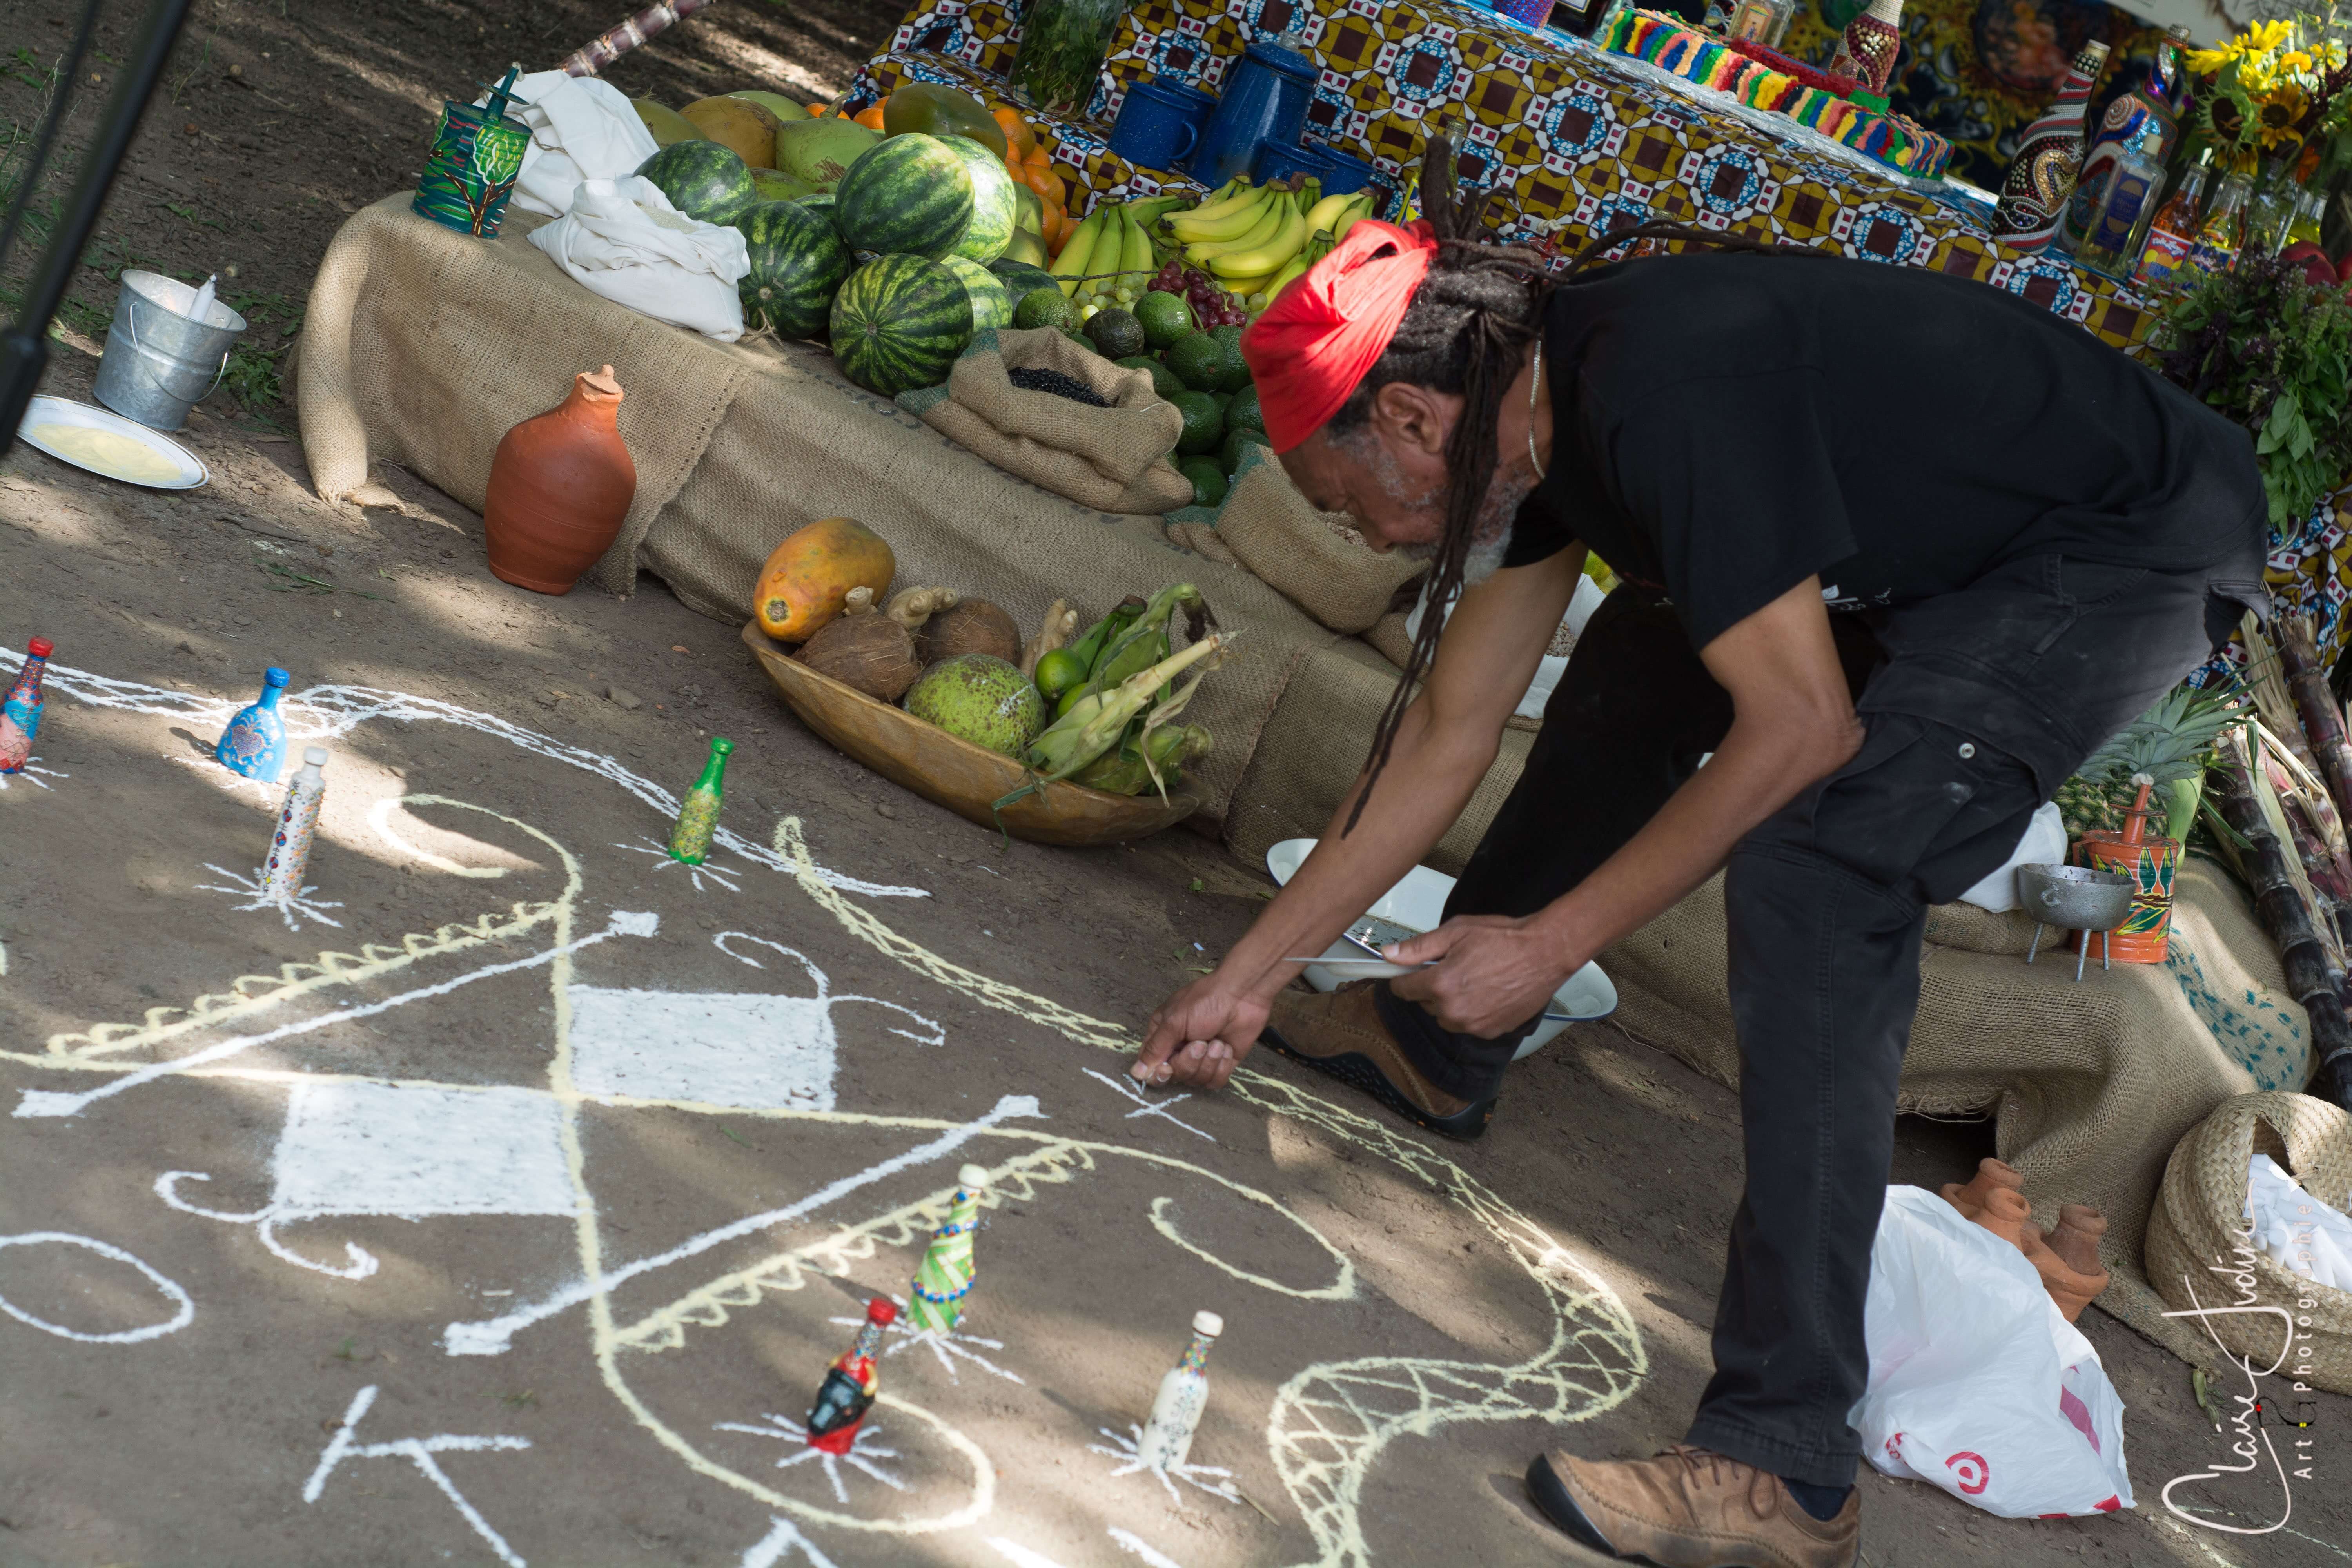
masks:
[[[985,595],[1023,625],[1056,597],[1103,611],[1190,578],[1247,654],[1192,710],[1216,733],[1200,769],[1204,820],[1251,863],[1277,839],[1322,832],[1395,682],[1369,642],[1324,630],[1240,564],[1178,550],[1157,517],[1096,512],[990,468],[849,386],[821,350],[663,327],[557,273],[522,240],[529,219],[480,242],[407,202],[355,214],[310,292],[296,400],[322,496],[365,487],[372,463],[400,463],[480,508],[499,437],[560,402],[574,371],[612,362],[628,390],[621,435],[637,498],[593,583],[628,595],[647,569],[739,625],[776,541],[830,515],[889,538],[901,581]],[[1435,865],[1456,870],[1477,844],[1526,741],[1503,736]],[[1710,884],[1602,961],[1632,1034],[1733,1081],[1722,919]],[[1903,1103],[1994,1117],[2044,1220],[2060,1201],[2105,1208],[2117,1286],[2103,1305],[2197,1354],[2143,1281],[2147,1208],[2173,1143],[2220,1100],[2300,1086],[2303,1013],[2244,898],[2194,863],[2180,875],[2169,966],[2093,966],[2077,987],[2070,957],[2020,961],[2025,931],[1966,907],[1936,912]]]

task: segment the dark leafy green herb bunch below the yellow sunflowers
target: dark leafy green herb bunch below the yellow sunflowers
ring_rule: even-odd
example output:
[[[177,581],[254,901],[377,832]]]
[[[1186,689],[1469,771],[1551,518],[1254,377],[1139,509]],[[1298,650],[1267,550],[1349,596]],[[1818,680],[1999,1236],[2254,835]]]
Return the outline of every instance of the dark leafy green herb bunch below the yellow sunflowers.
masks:
[[[2209,273],[2164,313],[2157,367],[2253,430],[2272,529],[2352,477],[2352,303],[2303,263],[2249,249]]]

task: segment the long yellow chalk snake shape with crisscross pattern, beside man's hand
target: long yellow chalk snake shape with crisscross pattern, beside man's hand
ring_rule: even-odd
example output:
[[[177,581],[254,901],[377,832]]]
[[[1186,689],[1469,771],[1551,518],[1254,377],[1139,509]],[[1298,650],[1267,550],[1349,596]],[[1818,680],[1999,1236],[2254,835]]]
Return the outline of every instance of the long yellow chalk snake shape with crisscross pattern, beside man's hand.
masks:
[[[851,905],[816,875],[800,818],[776,823],[776,853],[814,903],[906,969],[1068,1039],[1127,1053],[1138,1046],[1115,1023],[1073,1013],[1047,997],[948,964]],[[1390,1441],[1428,1436],[1461,1420],[1590,1420],[1623,1403],[1649,1375],[1642,1331],[1609,1284],[1458,1164],[1385,1121],[1249,1067],[1232,1074],[1230,1091],[1270,1114],[1378,1154],[1458,1204],[1552,1305],[1552,1338],[1526,1361],[1371,1356],[1310,1366],[1282,1385],[1265,1418],[1265,1443],[1284,1490],[1315,1535],[1315,1568],[1371,1563],[1357,1507],[1371,1465]]]

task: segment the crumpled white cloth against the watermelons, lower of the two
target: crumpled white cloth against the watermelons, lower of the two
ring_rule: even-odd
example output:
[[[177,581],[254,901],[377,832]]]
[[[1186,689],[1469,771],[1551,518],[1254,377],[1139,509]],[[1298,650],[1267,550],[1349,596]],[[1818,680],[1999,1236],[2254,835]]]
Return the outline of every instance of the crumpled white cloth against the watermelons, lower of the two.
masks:
[[[750,270],[743,235],[670,207],[649,179],[583,179],[572,209],[532,244],[604,299],[720,343],[743,336],[736,284]]]

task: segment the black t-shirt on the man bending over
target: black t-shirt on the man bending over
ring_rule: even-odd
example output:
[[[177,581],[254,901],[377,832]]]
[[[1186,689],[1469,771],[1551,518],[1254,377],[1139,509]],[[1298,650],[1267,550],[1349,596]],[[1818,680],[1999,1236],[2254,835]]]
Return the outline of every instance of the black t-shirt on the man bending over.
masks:
[[[1818,574],[1905,604],[2025,555],[2164,571],[2265,527],[2253,437],[2002,289],[1835,256],[1675,254],[1552,296],[1550,475],[1508,567],[1571,541],[1693,646]]]

